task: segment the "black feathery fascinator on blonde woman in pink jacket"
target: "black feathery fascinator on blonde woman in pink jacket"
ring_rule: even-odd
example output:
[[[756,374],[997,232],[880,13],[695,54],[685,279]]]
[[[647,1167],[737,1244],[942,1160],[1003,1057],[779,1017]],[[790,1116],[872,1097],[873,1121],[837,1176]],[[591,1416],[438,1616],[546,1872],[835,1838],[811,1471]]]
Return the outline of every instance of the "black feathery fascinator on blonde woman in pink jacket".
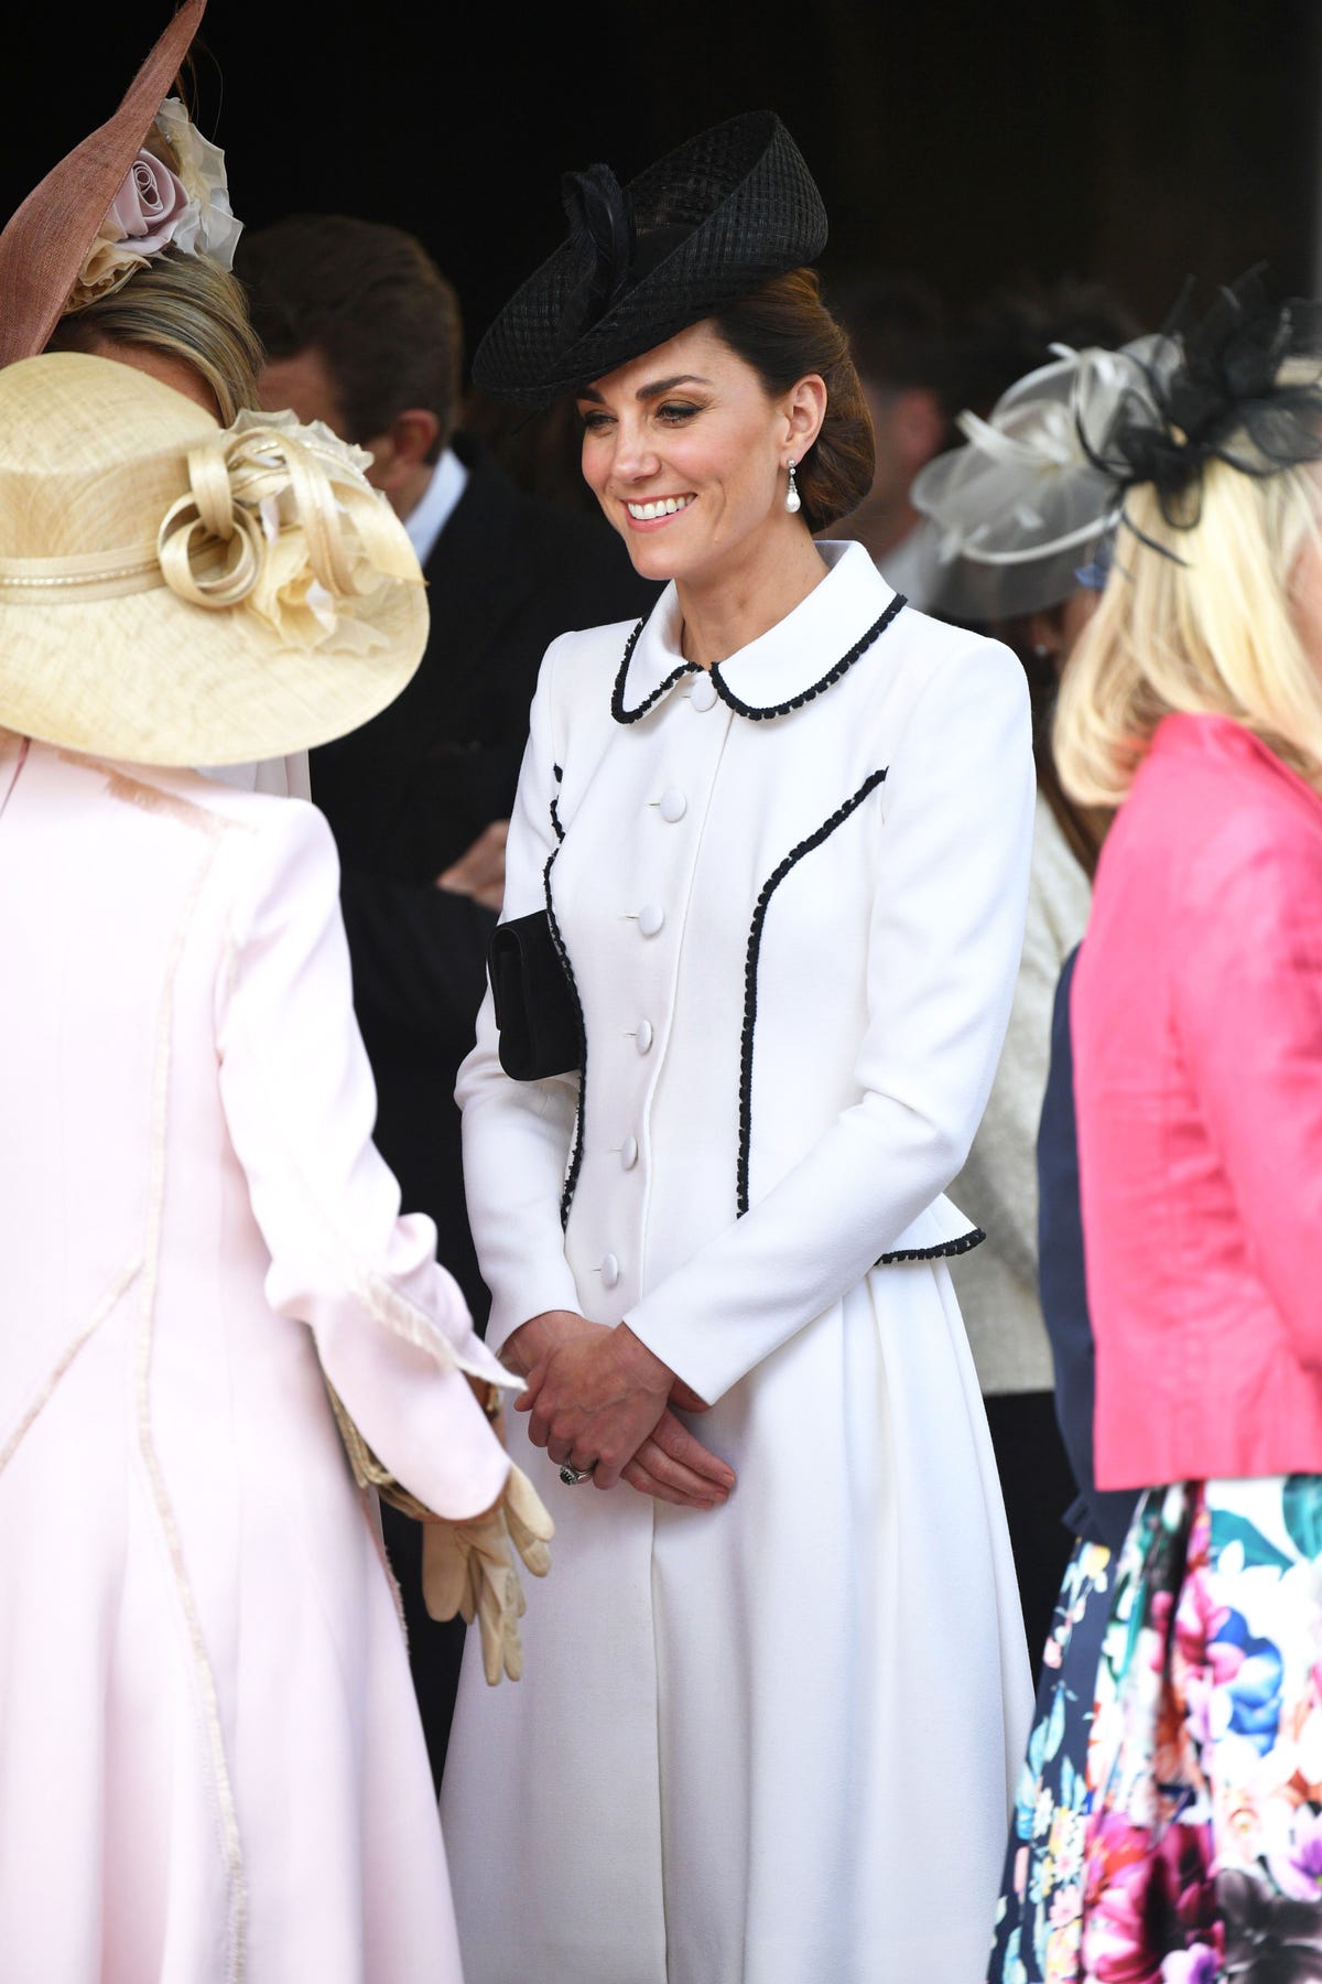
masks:
[[[1322,458],[1322,315],[1272,304],[1259,270],[1221,290],[1193,323],[1189,292],[1122,395],[1106,436],[1080,431],[1120,494],[1152,484],[1171,530],[1201,516],[1203,474],[1225,462],[1272,476]],[[1163,550],[1163,546],[1156,546]]]

